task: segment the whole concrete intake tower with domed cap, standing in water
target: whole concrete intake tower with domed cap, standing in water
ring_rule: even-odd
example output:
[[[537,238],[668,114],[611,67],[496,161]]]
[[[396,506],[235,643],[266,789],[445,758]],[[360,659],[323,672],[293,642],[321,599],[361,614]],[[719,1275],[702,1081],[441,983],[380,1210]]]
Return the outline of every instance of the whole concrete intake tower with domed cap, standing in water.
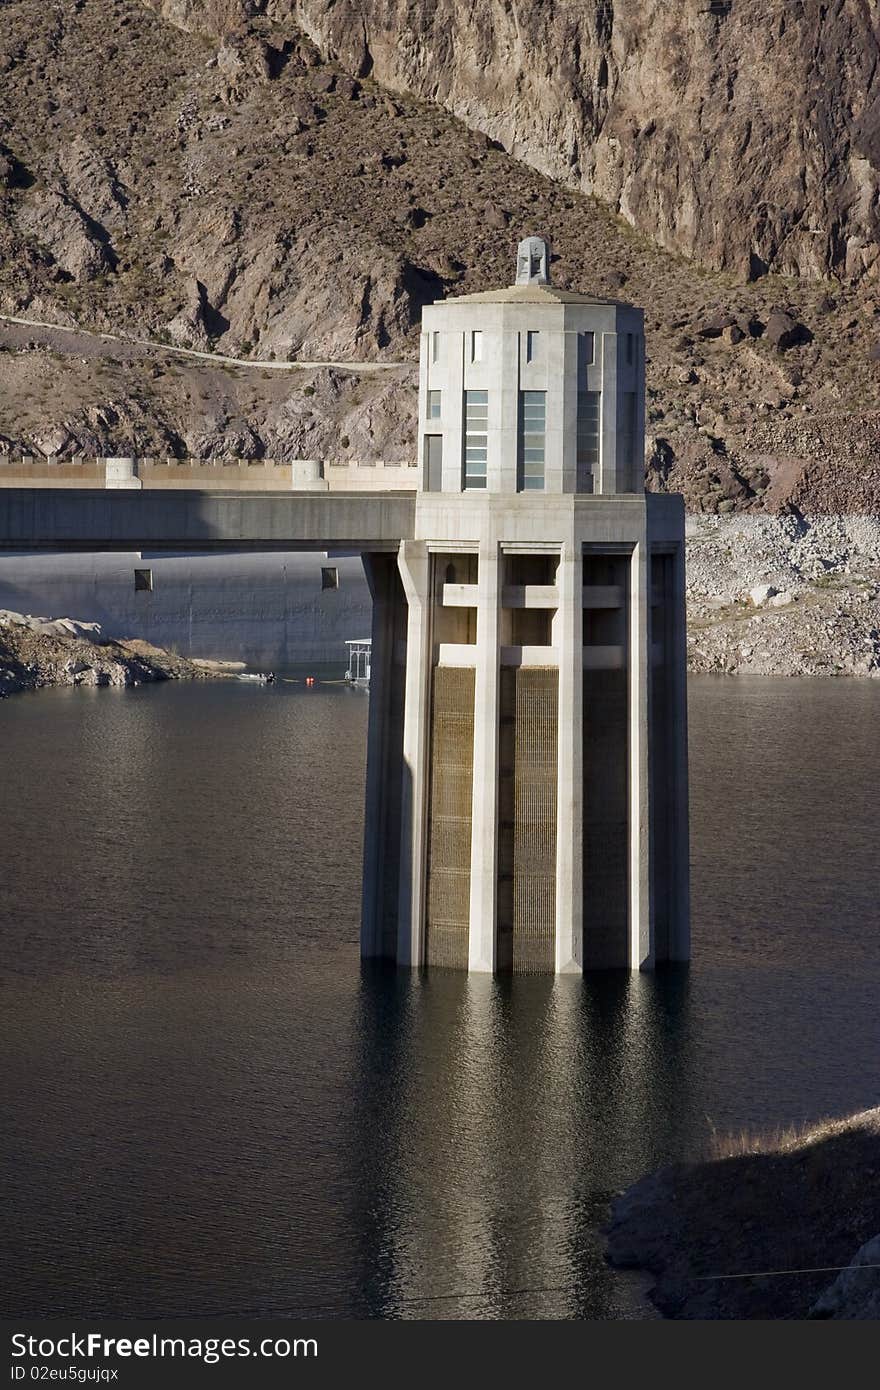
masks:
[[[644,491],[638,309],[549,282],[425,307],[414,538],[367,553],[361,954],[688,958],[684,506]]]

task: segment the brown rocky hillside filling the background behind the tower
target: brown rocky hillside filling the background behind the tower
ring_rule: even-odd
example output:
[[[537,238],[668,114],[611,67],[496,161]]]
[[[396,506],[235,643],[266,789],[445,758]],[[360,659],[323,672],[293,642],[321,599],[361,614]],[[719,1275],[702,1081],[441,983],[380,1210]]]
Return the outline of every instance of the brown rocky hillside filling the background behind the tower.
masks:
[[[355,22],[348,0],[8,0],[0,313],[79,332],[0,321],[0,450],[405,457],[412,367],[367,378],[332,367],[268,374],[260,361],[412,363],[421,306],[509,281],[517,239],[537,231],[553,243],[560,285],[646,306],[651,486],[680,489],[692,510],[710,513],[876,510],[880,295],[867,225],[876,199],[863,182],[865,215],[847,203],[855,178],[847,170],[862,158],[852,131],[874,79],[863,75],[849,99],[856,54],[852,74],[838,64],[813,101],[816,121],[829,103],[847,113],[826,122],[834,138],[820,177],[822,142],[806,138],[801,107],[781,114],[780,72],[792,90],[802,72],[783,61],[797,15],[760,61],[752,36],[734,96],[723,97],[749,4],[690,18],[646,4],[638,29],[634,19],[612,22],[608,7],[591,36],[599,11],[549,3],[514,11],[488,0],[452,8],[385,0]],[[503,38],[514,14],[516,44]],[[847,4],[829,7],[823,42],[848,14]],[[858,14],[845,19],[852,44]],[[663,35],[663,51],[678,53],[671,76],[659,58]],[[701,35],[712,82],[694,56]],[[817,49],[808,76],[824,61]],[[826,221],[834,246],[848,247],[842,260],[840,246],[819,252],[817,236],[805,240],[817,206],[808,199],[794,218],[801,203],[777,188],[790,156],[769,115],[745,146],[740,133],[744,153],[726,163],[738,125],[724,103],[745,108],[751,90],[755,110],[769,111],[770,78],[780,107],[773,131],[785,125],[792,147],[805,143],[813,164],[801,182],[830,200]],[[637,90],[655,129],[639,126],[633,145],[623,131]],[[492,103],[507,125],[491,117]],[[566,163],[573,113],[581,133],[577,161]],[[589,122],[599,121],[596,133]],[[626,195],[612,189],[612,150]],[[651,183],[652,199],[633,179]],[[755,181],[776,208],[765,231],[784,254],[744,232],[759,202]],[[677,229],[635,220],[635,206],[666,207]],[[794,218],[784,235],[783,206]],[[748,243],[745,260],[727,246],[734,236]],[[863,242],[855,260],[854,236]],[[817,259],[804,259],[802,245]],[[801,278],[758,275],[759,263]],[[836,278],[819,282],[819,272]],[[170,354],[175,345],[253,366],[200,364]]]

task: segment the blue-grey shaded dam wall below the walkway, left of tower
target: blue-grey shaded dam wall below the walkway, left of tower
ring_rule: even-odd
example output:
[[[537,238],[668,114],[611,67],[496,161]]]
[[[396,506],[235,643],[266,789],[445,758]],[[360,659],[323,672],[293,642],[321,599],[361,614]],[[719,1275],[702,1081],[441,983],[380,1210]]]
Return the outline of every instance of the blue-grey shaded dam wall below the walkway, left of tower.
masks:
[[[147,571],[145,587],[135,571]],[[279,669],[345,663],[346,639],[367,637],[371,621],[360,555],[320,552],[6,553],[0,607]]]

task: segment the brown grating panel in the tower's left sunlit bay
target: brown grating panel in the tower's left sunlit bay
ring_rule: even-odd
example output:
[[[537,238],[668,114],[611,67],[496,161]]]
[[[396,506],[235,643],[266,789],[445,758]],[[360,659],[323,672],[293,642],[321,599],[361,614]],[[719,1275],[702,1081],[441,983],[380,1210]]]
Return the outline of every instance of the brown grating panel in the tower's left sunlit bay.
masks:
[[[437,666],[432,687],[425,963],[467,970],[474,670]]]

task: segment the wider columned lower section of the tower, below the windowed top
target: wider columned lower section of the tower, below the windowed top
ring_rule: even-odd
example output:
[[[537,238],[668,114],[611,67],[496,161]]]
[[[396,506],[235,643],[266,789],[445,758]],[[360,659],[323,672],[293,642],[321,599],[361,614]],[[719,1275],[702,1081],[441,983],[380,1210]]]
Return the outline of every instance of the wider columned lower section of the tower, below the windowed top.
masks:
[[[421,493],[367,557],[366,956],[688,958],[683,556],[680,498]]]

